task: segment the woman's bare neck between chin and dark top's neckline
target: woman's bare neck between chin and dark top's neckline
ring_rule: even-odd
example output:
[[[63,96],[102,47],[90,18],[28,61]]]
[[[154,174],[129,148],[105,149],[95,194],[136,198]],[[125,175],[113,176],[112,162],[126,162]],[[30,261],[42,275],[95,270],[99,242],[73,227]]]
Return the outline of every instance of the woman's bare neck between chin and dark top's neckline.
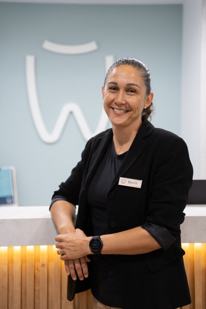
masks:
[[[132,142],[137,134],[137,131],[140,129],[142,124],[139,124],[138,127],[133,127],[130,129],[120,128],[112,126],[113,130],[113,141],[117,155],[121,155],[124,152],[128,151]]]

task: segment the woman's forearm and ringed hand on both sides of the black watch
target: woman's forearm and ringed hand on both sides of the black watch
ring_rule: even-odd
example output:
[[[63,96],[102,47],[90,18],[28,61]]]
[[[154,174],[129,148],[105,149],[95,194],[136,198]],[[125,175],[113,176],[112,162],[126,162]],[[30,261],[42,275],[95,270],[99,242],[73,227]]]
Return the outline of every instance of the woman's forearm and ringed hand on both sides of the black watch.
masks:
[[[89,248],[91,237],[77,229],[76,233],[58,235],[57,248],[64,254],[62,260],[73,260],[92,254]],[[159,243],[141,226],[119,233],[101,235],[103,248],[101,254],[143,254],[160,249]]]

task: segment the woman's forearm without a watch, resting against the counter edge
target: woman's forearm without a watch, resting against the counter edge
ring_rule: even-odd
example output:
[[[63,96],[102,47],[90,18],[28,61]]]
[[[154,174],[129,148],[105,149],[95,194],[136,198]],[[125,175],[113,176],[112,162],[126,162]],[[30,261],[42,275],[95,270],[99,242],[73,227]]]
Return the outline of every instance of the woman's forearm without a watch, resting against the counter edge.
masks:
[[[56,201],[53,203],[50,212],[60,234],[75,232],[72,219],[76,208],[73,204],[67,201]]]

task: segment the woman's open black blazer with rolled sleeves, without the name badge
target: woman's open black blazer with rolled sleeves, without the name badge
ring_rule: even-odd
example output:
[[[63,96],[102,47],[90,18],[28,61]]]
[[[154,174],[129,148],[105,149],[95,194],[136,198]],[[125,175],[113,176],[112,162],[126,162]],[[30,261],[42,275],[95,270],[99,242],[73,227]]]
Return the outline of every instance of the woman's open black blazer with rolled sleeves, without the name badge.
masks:
[[[82,152],[82,160],[53,195],[60,194],[79,205],[76,228],[82,229],[87,236],[93,236],[87,188],[112,136],[112,129],[108,129],[91,138]],[[139,255],[112,256],[123,309],[174,309],[191,303],[180,224],[184,221],[183,210],[192,174],[183,139],[154,128],[143,119],[107,194],[108,230],[116,233],[144,225],[162,248]],[[118,185],[120,177],[142,180],[141,188]],[[92,270],[88,265],[89,277],[77,280],[75,289],[69,276],[69,300],[74,297],[73,289],[78,293],[90,288]]]

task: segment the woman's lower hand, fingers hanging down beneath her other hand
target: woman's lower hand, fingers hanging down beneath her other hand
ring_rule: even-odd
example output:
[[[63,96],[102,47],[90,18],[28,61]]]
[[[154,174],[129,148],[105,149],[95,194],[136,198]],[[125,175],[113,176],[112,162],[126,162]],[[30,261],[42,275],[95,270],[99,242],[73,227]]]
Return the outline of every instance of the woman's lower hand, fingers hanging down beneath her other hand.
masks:
[[[87,278],[89,275],[87,262],[90,262],[90,261],[91,260],[88,258],[88,256],[82,257],[77,260],[65,260],[64,265],[65,265],[65,270],[66,270],[67,275],[70,274],[73,280],[77,279],[77,275],[80,280],[83,280],[84,277]],[[76,275],[76,272],[77,272],[77,275]]]

